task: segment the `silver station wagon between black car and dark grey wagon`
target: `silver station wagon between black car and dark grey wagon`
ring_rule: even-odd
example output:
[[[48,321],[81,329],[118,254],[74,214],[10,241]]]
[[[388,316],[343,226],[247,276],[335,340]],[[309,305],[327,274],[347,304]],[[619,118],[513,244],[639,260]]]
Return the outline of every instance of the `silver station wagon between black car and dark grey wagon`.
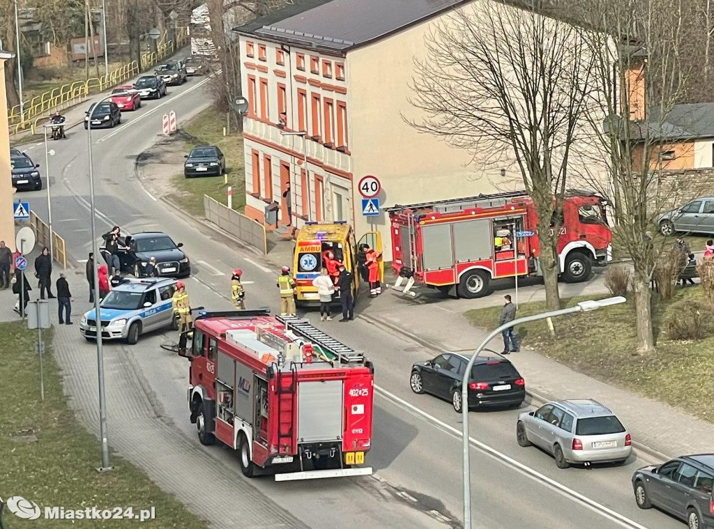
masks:
[[[516,439],[553,455],[558,468],[571,463],[625,463],[632,438],[615,414],[596,400],[557,400],[518,415]]]

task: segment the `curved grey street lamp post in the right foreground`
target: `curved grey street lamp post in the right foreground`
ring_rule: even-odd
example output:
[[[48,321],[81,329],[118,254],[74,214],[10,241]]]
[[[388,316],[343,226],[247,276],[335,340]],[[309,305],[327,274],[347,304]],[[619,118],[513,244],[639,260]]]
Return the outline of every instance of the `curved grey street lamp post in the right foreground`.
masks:
[[[476,361],[476,357],[483,351],[488,343],[496,338],[501,331],[505,331],[507,328],[511,328],[521,323],[528,323],[530,321],[545,320],[546,318],[555,318],[555,316],[564,316],[565,314],[573,314],[578,312],[589,312],[594,311],[598,308],[609,307],[611,305],[618,305],[619,303],[625,303],[627,301],[623,296],[615,296],[614,298],[601,299],[599,301],[588,300],[581,301],[574,307],[561,308],[559,311],[550,311],[540,314],[534,314],[533,316],[526,316],[525,318],[517,318],[516,320],[509,321],[508,323],[503,323],[503,325],[498,326],[494,329],[491,334],[486,336],[486,339],[481,342],[481,344],[473,352],[473,355],[468,361],[468,366],[466,366],[466,372],[463,377],[463,382],[461,383],[461,413],[463,414],[463,527],[464,529],[471,529],[471,465],[469,461],[469,443],[468,443],[468,383],[469,373],[471,373],[471,368],[473,368],[473,363]]]

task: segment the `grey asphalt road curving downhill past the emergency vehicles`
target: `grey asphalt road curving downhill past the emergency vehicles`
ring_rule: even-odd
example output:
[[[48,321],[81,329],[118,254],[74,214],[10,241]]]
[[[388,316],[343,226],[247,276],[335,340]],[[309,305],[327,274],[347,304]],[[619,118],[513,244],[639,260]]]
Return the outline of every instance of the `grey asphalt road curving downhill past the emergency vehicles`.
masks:
[[[205,79],[195,78],[184,86],[171,87],[166,99],[148,101],[139,111],[124,113],[124,122],[116,129],[92,132],[97,236],[114,224],[131,233],[166,231],[176,242],[184,243],[193,263],[193,276],[187,281],[193,306],[229,308],[230,271],[240,267],[248,307],[269,306],[274,311],[278,301],[276,266],[157,201],[134,173],[136,156],[161,133],[162,114],[176,111],[180,126],[208,106],[205,83]],[[91,249],[87,136],[81,126],[67,135],[64,141],[51,142],[56,151],[50,159],[51,205],[54,229],[65,238],[72,265],[81,267],[81,259]],[[46,174],[42,144],[24,150],[41,163]],[[46,191],[18,193],[16,198],[28,200],[39,216],[47,218]],[[414,395],[408,386],[412,363],[431,358],[434,352],[359,318],[351,323],[321,323],[314,313],[310,316],[336,338],[366,351],[376,364],[373,449],[367,458],[376,478],[276,483],[265,477],[251,480],[251,485],[316,529],[458,527],[462,519],[461,417],[450,403]],[[108,344],[106,354],[134,356],[156,395],[156,405],[174,421],[177,431],[191,435],[197,448],[223,464],[238,468],[232,450],[198,444],[185,401],[188,363],[159,348],[173,339],[155,333],[142,337],[137,346]],[[94,346],[84,343],[79,331],[76,340],[91,358]],[[523,375],[528,378],[528,373]],[[635,505],[630,476],[635,468],[653,463],[646,456],[633,456],[623,467],[559,470],[553,459],[538,449],[518,447],[518,411],[473,412],[469,416],[475,527],[683,527],[663,513],[639,510]],[[109,438],[111,443],[111,418]]]

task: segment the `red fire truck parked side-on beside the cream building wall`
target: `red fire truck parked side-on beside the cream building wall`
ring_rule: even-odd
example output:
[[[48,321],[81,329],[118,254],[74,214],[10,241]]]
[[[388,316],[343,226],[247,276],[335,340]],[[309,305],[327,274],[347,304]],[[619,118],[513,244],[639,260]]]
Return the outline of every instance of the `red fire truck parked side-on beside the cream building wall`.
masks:
[[[612,260],[605,201],[586,191],[563,200],[558,235],[560,276],[587,281],[593,264]],[[462,298],[480,298],[492,279],[540,276],[537,216],[524,192],[394,206],[391,221],[393,288],[414,296],[423,283]],[[406,284],[402,286],[402,283]]]

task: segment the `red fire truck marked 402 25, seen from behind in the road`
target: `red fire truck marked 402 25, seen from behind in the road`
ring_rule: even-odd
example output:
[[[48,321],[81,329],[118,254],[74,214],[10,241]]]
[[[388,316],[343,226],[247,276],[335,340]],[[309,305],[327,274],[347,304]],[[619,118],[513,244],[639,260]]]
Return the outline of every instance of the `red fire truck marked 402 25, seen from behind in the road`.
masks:
[[[269,309],[201,313],[188,407],[204,445],[239,451],[243,474],[276,480],[370,475],[373,365],[303,319]]]

